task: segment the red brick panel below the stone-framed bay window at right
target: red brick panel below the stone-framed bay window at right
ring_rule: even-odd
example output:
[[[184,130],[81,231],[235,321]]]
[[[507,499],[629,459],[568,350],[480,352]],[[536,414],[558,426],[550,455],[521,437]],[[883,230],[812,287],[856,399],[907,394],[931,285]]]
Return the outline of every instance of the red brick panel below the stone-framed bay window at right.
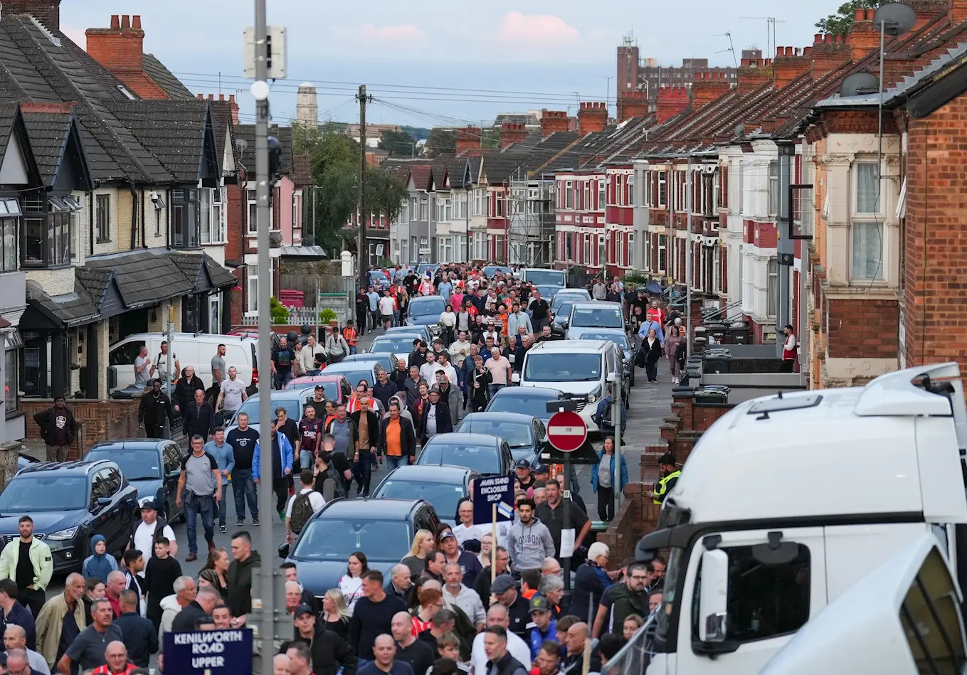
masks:
[[[829,355],[832,358],[895,359],[899,303],[895,300],[828,301]]]

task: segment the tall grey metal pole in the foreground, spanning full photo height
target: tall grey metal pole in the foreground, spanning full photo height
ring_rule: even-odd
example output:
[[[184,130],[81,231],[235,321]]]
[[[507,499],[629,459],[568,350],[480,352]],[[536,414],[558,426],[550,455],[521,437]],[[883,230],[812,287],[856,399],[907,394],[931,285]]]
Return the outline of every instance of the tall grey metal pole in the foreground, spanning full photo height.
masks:
[[[258,383],[258,397],[263,401],[270,400],[272,396],[272,376],[267,365],[272,361],[272,317],[269,312],[269,303],[272,296],[272,258],[269,253],[269,228],[271,227],[271,207],[269,206],[269,195],[271,191],[269,178],[269,95],[266,80],[269,78],[269,54],[268,54],[268,24],[265,10],[266,0],[255,0],[255,84],[252,85],[252,93],[255,88],[259,88],[255,98],[255,198],[256,198],[256,218],[258,221],[258,278],[265,279],[258,284],[258,295],[256,303],[258,307],[258,363],[262,365],[262,378]],[[262,86],[259,86],[259,85]],[[272,406],[258,406],[258,423],[262,429],[262,439],[268,439],[272,435]],[[265,452],[261,458],[261,473],[263,476],[272,476],[272,443],[267,444]],[[273,597],[272,568],[268,556],[276,544],[272,537],[272,481],[262,481],[258,485],[258,501],[262,505],[264,512],[262,521],[258,526],[260,540],[258,548],[265,552],[266,560],[263,563],[262,573],[258,578],[262,582],[260,595],[262,598],[262,625],[258,627],[262,639],[262,672],[272,673],[272,638],[275,632],[273,622],[273,608],[275,598]],[[266,606],[268,605],[268,606]]]

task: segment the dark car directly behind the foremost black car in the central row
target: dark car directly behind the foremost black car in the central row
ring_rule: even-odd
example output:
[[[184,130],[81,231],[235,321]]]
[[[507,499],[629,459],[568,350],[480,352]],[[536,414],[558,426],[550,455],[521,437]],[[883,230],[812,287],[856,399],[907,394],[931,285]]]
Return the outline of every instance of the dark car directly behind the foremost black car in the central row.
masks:
[[[481,475],[463,466],[400,466],[372,493],[373,499],[423,499],[440,519],[456,524],[456,506],[470,496],[470,482]]]

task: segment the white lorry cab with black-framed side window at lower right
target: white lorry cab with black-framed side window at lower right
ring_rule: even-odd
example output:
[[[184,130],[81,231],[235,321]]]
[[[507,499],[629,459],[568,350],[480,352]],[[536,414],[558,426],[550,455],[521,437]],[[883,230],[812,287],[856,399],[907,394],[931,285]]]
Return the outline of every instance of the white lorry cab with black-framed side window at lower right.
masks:
[[[659,529],[637,544],[642,559],[668,554],[642,671],[758,673],[924,534],[962,585],[959,377],[955,364],[924,366],[865,387],[757,398],[706,431],[664,499]]]

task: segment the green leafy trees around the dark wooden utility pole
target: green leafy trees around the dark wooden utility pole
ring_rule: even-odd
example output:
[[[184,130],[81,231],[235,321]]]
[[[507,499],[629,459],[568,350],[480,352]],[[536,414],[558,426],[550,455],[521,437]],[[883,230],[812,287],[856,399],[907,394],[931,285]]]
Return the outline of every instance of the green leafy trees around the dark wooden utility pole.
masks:
[[[303,130],[299,143],[308,154],[312,167],[312,184],[307,195],[307,215],[312,218],[312,194],[315,192],[315,222],[312,238],[326,249],[340,249],[347,236],[345,229],[359,204],[360,146],[336,124]],[[379,167],[366,167],[366,203],[374,213],[396,218],[407,196],[405,186]]]

